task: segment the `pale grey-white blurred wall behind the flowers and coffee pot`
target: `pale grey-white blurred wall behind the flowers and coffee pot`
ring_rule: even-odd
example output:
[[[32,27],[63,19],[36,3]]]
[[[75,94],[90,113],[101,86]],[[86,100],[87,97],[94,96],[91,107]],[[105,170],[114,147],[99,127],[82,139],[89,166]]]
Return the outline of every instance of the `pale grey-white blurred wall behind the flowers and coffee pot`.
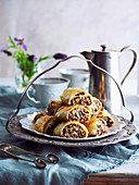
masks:
[[[9,35],[25,38],[29,53],[37,57],[64,52],[79,54],[84,50],[121,50],[127,45],[139,49],[139,0],[0,0],[0,48],[9,44]],[[46,61],[49,67],[53,61]],[[131,63],[127,53],[119,61],[121,76]],[[13,59],[0,55],[0,77],[15,75]],[[88,67],[78,61],[61,67]],[[128,77],[137,81],[137,65]]]

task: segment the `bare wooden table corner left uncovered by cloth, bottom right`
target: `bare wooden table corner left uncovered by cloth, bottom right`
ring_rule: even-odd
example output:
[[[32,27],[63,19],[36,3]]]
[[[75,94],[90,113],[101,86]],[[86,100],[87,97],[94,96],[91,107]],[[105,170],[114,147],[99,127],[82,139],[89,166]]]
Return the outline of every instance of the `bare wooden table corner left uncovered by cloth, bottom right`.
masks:
[[[89,175],[84,185],[139,185],[139,150],[121,166]]]

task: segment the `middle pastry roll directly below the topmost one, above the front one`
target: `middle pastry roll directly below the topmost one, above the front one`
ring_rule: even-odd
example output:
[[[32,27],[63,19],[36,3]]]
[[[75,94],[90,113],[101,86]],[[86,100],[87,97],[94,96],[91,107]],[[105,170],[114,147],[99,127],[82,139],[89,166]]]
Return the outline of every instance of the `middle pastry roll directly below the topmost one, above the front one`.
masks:
[[[90,110],[80,104],[63,106],[58,110],[55,116],[64,122],[66,121],[85,122],[90,120],[91,112]]]

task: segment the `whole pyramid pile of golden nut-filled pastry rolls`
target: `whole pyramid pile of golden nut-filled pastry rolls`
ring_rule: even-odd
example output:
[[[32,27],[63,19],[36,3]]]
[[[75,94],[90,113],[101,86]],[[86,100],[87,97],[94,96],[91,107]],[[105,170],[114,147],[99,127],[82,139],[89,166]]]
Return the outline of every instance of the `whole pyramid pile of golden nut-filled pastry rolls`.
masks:
[[[61,100],[50,100],[47,111],[36,113],[33,123],[39,133],[85,138],[108,133],[114,124],[99,99],[79,88],[66,88]]]

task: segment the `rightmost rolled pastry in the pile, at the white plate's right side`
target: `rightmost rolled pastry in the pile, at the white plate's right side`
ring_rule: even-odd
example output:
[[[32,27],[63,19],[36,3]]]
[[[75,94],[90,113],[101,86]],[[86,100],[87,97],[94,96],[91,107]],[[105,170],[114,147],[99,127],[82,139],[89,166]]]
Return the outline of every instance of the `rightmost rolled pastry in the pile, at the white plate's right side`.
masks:
[[[114,120],[112,115],[104,108],[101,109],[101,111],[99,112],[97,116],[102,118],[106,122],[108,127],[111,127],[114,125]]]

